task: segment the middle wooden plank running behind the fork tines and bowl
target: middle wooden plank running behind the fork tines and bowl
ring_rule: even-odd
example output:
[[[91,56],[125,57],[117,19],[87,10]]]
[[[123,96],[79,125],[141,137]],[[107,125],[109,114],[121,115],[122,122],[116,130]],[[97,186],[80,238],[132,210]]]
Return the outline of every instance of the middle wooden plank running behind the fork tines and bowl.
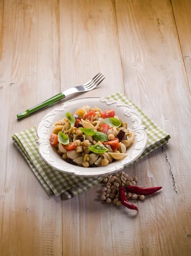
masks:
[[[112,1],[60,1],[60,46],[62,90],[82,84],[102,72],[105,75],[103,83],[78,97],[123,92]],[[103,207],[95,198],[97,187],[70,200],[63,197],[63,255],[115,255],[111,209]]]

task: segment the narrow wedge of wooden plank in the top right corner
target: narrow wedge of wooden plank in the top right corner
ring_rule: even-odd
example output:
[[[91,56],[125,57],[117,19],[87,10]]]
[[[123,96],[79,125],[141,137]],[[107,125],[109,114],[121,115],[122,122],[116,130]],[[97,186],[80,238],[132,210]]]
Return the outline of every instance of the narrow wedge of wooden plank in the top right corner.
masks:
[[[191,1],[171,0],[188,83],[191,88]]]

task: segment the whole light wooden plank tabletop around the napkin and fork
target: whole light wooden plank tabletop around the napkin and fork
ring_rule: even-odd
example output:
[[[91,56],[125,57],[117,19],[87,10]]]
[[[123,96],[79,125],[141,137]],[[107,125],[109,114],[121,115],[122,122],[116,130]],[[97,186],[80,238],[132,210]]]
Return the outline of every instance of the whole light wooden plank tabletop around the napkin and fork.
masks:
[[[190,0],[0,0],[1,256],[191,255],[190,13]],[[98,72],[86,96],[121,91],[171,134],[125,169],[163,187],[136,217],[100,203],[102,184],[48,196],[11,141],[62,102],[17,113]]]

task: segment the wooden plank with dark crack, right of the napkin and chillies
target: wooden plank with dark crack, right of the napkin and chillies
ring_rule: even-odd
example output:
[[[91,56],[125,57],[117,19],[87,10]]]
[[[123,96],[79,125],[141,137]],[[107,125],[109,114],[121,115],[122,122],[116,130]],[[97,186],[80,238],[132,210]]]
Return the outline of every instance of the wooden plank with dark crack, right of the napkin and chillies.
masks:
[[[167,0],[115,4],[125,92],[171,134],[168,146],[128,169],[139,177],[140,185],[161,185],[163,190],[138,202],[139,216],[123,222],[120,241],[125,246],[120,245],[115,255],[188,256],[191,101],[171,4]],[[120,223],[118,218],[116,226]],[[117,240],[116,234],[112,237]]]

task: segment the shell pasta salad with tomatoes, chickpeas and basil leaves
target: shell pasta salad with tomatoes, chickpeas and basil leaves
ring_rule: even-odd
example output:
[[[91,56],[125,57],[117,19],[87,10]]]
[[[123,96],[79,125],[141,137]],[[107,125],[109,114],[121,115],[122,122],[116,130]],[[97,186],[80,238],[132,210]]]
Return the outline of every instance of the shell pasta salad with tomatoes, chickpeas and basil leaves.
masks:
[[[134,132],[115,116],[113,109],[101,111],[84,105],[75,113],[66,112],[54,124],[51,145],[63,160],[77,166],[107,166],[127,156]]]

